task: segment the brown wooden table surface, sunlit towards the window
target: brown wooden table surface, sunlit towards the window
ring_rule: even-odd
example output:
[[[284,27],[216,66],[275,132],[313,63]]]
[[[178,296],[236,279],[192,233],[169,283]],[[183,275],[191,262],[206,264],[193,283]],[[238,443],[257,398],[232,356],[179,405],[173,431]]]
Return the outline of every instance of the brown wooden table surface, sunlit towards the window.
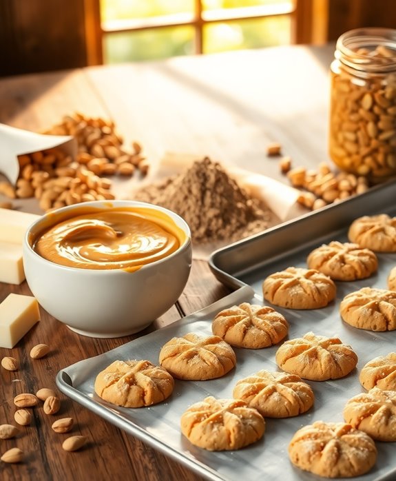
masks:
[[[333,45],[293,46],[158,63],[101,66],[0,81],[0,122],[39,132],[76,111],[111,118],[125,143],[137,140],[152,165],[165,152],[202,154],[285,182],[278,162],[267,157],[268,143],[282,144],[293,165],[313,167],[326,153],[329,65]],[[1,148],[1,147],[0,147]],[[0,301],[10,292],[31,294],[26,283],[0,283]],[[145,334],[190,314],[229,293],[207,263],[194,260],[178,303]],[[139,334],[139,335],[140,335]],[[0,369],[0,422],[12,424],[17,393],[56,389],[63,367],[113,349],[134,336],[92,339],[74,334],[41,309],[41,322],[14,349],[18,371]],[[48,343],[50,354],[30,359],[30,349]],[[14,440],[1,440],[0,451],[17,446],[21,464],[0,462],[8,480],[198,480],[181,466],[63,396],[56,417],[71,416],[74,433],[87,436],[84,449],[67,453],[65,435],[51,429],[52,419],[33,409],[33,422]]]

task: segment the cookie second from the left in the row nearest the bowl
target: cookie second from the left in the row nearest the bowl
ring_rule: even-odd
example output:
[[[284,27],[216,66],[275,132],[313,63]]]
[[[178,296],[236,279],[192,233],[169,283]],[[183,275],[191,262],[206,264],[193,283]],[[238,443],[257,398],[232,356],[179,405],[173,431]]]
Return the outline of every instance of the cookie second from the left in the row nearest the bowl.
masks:
[[[225,340],[194,333],[169,340],[159,360],[172,376],[185,380],[220,378],[236,366],[236,355]]]

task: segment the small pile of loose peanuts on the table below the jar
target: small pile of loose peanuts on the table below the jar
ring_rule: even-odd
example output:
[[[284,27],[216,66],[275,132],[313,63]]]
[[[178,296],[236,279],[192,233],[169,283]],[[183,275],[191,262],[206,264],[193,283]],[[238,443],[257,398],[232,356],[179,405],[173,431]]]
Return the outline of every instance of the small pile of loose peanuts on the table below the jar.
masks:
[[[300,190],[298,202],[311,210],[362,194],[369,187],[366,177],[343,171],[335,173],[325,162],[320,163],[317,170],[307,170],[306,167],[291,168],[291,158],[285,156],[280,159],[279,165],[291,185]]]

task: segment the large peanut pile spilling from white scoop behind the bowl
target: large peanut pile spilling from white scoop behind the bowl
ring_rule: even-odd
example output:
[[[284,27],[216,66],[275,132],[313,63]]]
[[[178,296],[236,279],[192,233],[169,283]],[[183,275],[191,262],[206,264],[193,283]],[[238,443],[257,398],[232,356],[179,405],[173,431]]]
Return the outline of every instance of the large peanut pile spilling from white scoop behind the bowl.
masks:
[[[132,143],[132,152],[127,152],[111,121],[76,113],[65,116],[62,123],[45,134],[74,136],[78,145],[76,158],[56,147],[20,155],[16,187],[0,182],[0,194],[8,198],[34,196],[47,212],[79,202],[114,199],[112,181],[104,176],[132,176],[136,170],[147,174],[149,165],[140,145]]]

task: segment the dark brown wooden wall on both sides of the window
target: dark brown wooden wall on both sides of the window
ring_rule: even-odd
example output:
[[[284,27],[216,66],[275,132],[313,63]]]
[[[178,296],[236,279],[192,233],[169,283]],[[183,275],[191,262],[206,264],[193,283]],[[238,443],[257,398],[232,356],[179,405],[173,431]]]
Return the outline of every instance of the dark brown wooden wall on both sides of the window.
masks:
[[[101,63],[99,0],[0,0],[0,76]],[[396,28],[396,0],[298,0],[298,43]]]

